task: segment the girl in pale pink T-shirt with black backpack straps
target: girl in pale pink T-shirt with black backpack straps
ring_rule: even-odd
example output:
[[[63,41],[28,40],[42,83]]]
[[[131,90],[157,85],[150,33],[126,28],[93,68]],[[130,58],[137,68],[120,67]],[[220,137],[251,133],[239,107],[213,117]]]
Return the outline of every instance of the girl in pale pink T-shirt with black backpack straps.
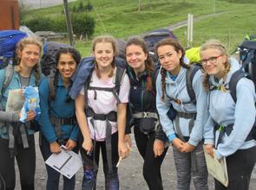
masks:
[[[75,113],[82,131],[82,189],[95,188],[100,149],[106,189],[119,189],[116,164],[128,156],[125,144],[126,106],[129,81],[125,74],[119,94],[114,92],[118,67],[115,66],[115,40],[99,36],[92,43],[95,69],[75,98]],[[119,99],[119,101],[117,101]],[[118,104],[119,102],[119,104]],[[88,119],[87,119],[88,118]]]

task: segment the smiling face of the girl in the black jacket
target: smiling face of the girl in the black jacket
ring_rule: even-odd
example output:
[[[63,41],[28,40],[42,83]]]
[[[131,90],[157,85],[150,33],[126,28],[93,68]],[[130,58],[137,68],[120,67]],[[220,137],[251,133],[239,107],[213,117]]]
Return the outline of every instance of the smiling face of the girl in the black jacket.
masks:
[[[135,71],[142,72],[145,70],[147,58],[148,54],[140,46],[132,44],[126,48],[126,60]]]

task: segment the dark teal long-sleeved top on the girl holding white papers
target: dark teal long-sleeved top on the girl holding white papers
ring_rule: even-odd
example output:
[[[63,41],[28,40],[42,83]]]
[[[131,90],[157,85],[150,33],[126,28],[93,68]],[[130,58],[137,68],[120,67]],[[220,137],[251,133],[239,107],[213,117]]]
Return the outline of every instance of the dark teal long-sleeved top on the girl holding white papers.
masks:
[[[71,84],[69,85],[69,89]],[[59,75],[57,82],[56,98],[49,98],[49,79],[45,78],[39,85],[41,117],[39,124],[49,143],[57,140],[56,131],[52,123],[50,123],[49,115],[54,117],[69,118],[75,116],[75,103],[69,98],[69,89],[66,89],[62,77]],[[69,99],[69,100],[68,100]],[[79,127],[77,124],[62,124],[62,139],[72,139],[77,141]]]

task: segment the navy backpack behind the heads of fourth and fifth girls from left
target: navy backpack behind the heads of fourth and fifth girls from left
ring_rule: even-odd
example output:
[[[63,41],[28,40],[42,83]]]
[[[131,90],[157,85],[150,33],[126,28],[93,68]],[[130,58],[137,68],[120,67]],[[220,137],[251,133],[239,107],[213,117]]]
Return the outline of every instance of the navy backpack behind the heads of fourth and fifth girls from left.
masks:
[[[177,39],[174,33],[166,28],[155,29],[148,32],[148,34],[143,37],[143,40],[146,42],[148,48],[148,53],[154,62],[158,61],[157,56],[154,54],[154,46],[157,42],[166,38]]]

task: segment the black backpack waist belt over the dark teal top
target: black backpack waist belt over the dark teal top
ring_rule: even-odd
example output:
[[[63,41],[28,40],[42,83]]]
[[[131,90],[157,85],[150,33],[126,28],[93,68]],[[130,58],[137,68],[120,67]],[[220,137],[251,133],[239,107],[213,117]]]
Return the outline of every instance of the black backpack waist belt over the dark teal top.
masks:
[[[49,121],[52,125],[54,125],[54,129],[56,132],[57,141],[62,142],[62,124],[76,124],[76,118],[73,117],[55,117],[53,114],[49,115]]]

